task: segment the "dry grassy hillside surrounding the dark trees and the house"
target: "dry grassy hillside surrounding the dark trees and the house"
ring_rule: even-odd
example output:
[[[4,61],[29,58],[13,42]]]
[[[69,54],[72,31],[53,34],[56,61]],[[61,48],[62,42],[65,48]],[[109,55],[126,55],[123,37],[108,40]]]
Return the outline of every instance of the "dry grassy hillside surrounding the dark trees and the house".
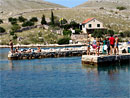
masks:
[[[87,18],[95,17],[104,24],[104,27],[110,30],[114,30],[116,33],[130,32],[130,3],[128,3],[130,0],[124,0],[123,2],[121,0],[89,0],[87,3],[79,5],[75,8],[63,8],[63,6],[56,4],[52,4],[54,6],[49,6],[51,3],[48,4],[48,2],[45,3],[45,1],[41,0],[17,0],[17,2],[16,0],[0,0],[0,4],[2,4],[2,2],[6,2],[6,5],[2,5],[4,10],[1,11],[0,19],[3,23],[0,24],[0,27],[3,27],[8,33],[0,37],[0,43],[2,44],[8,44],[7,39],[12,39],[9,35],[9,31],[12,28],[11,23],[8,21],[9,17],[18,18],[19,16],[23,16],[27,20],[30,20],[32,17],[37,17],[38,22],[36,22],[35,25],[40,25],[43,14],[46,17],[46,21],[48,23],[50,22],[52,10],[54,15],[58,17],[57,22],[59,19],[64,18],[68,21],[68,23],[74,20],[80,24]],[[21,6],[18,6],[17,4],[20,3]],[[4,8],[7,5],[9,5],[10,9]],[[2,8],[0,8],[0,10]],[[9,10],[11,11],[8,12]],[[20,26],[22,25],[21,23],[18,24]],[[42,40],[39,39],[39,32],[41,32],[40,37],[43,37]],[[23,38],[20,42],[21,44],[37,42],[56,43],[58,39],[63,37],[62,35],[58,35],[57,33],[53,32],[52,28],[35,28],[29,31],[16,33],[16,35],[17,37]],[[32,41],[33,39],[39,39],[40,41]]]

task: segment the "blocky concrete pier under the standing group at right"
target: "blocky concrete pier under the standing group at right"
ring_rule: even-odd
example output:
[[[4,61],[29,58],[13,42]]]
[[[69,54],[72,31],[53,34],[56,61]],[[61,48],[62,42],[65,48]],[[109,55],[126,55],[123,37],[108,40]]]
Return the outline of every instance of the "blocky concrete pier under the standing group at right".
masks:
[[[91,65],[104,65],[114,64],[120,62],[130,63],[130,53],[120,55],[82,55],[82,64]]]

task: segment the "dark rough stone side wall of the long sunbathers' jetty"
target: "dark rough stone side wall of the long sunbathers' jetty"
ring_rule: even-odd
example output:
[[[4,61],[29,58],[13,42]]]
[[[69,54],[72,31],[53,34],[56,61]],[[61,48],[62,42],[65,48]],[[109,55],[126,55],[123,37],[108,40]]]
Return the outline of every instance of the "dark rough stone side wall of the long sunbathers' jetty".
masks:
[[[86,54],[86,50],[68,50],[58,52],[40,52],[40,53],[10,53],[8,54],[9,60],[22,60],[22,59],[40,59],[40,58],[57,58],[57,57],[72,57],[82,56]]]

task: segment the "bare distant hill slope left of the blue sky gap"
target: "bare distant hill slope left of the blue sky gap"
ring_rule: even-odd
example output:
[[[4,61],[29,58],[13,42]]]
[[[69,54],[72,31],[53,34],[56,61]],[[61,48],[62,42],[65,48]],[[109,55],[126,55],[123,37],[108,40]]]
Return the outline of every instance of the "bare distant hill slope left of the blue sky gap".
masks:
[[[23,11],[28,9],[64,8],[43,0],[0,0],[0,11]]]

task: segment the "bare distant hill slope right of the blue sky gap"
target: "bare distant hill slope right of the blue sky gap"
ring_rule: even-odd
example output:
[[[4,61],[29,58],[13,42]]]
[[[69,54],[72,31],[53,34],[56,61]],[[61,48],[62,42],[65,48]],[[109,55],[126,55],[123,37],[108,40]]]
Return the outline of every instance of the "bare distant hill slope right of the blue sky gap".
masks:
[[[76,7],[104,7],[113,9],[118,6],[124,6],[129,9],[130,0],[88,0],[87,2]]]

